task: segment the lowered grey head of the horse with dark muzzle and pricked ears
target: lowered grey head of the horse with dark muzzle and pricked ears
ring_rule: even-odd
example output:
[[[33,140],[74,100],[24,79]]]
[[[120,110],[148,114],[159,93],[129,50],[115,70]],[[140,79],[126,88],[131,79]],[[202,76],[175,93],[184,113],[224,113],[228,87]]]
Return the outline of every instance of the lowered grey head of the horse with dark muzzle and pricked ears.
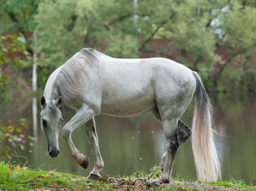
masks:
[[[41,97],[41,130],[46,135],[48,143],[48,154],[51,157],[59,155],[59,129],[63,121],[60,106],[62,99],[49,100],[46,102],[45,96]]]

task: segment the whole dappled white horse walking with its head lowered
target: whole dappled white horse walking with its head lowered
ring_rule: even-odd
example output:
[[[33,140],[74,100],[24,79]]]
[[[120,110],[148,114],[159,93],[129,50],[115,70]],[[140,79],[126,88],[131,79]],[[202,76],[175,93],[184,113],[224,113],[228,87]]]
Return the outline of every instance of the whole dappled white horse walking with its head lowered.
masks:
[[[163,173],[157,182],[168,182],[176,151],[190,136],[180,117],[195,95],[192,146],[197,179],[216,181],[221,176],[213,133],[210,101],[199,75],[166,58],[119,59],[95,49],[82,49],[54,70],[41,97],[41,129],[46,135],[51,157],[59,155],[59,129],[63,121],[60,106],[66,104],[76,114],[62,129],[71,155],[87,168],[88,158],[76,149],[72,132],[85,125],[94,155],[89,178],[100,177],[104,163],[98,146],[93,117],[100,113],[135,117],[152,112],[163,124],[166,151]]]

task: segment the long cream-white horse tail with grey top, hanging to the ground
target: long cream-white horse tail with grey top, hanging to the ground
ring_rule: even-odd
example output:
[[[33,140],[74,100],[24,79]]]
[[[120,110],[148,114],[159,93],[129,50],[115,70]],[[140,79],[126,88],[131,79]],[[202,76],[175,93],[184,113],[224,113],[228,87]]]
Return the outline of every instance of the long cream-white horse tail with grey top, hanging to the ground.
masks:
[[[193,76],[197,87],[191,140],[197,180],[214,182],[221,178],[221,171],[211,129],[211,105],[201,78],[197,72],[193,72]]]

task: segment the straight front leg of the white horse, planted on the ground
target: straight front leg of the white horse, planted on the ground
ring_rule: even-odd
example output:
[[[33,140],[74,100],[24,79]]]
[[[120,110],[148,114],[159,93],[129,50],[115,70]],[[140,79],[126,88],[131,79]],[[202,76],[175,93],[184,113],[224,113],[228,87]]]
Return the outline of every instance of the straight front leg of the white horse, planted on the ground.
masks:
[[[98,146],[98,135],[96,132],[96,125],[94,118],[90,119],[87,123],[85,123],[86,134],[89,138],[89,145],[93,151],[94,156],[94,168],[93,171],[89,173],[90,179],[98,179],[100,178],[99,172],[104,168],[104,163],[102,160],[102,155],[99,151]]]

